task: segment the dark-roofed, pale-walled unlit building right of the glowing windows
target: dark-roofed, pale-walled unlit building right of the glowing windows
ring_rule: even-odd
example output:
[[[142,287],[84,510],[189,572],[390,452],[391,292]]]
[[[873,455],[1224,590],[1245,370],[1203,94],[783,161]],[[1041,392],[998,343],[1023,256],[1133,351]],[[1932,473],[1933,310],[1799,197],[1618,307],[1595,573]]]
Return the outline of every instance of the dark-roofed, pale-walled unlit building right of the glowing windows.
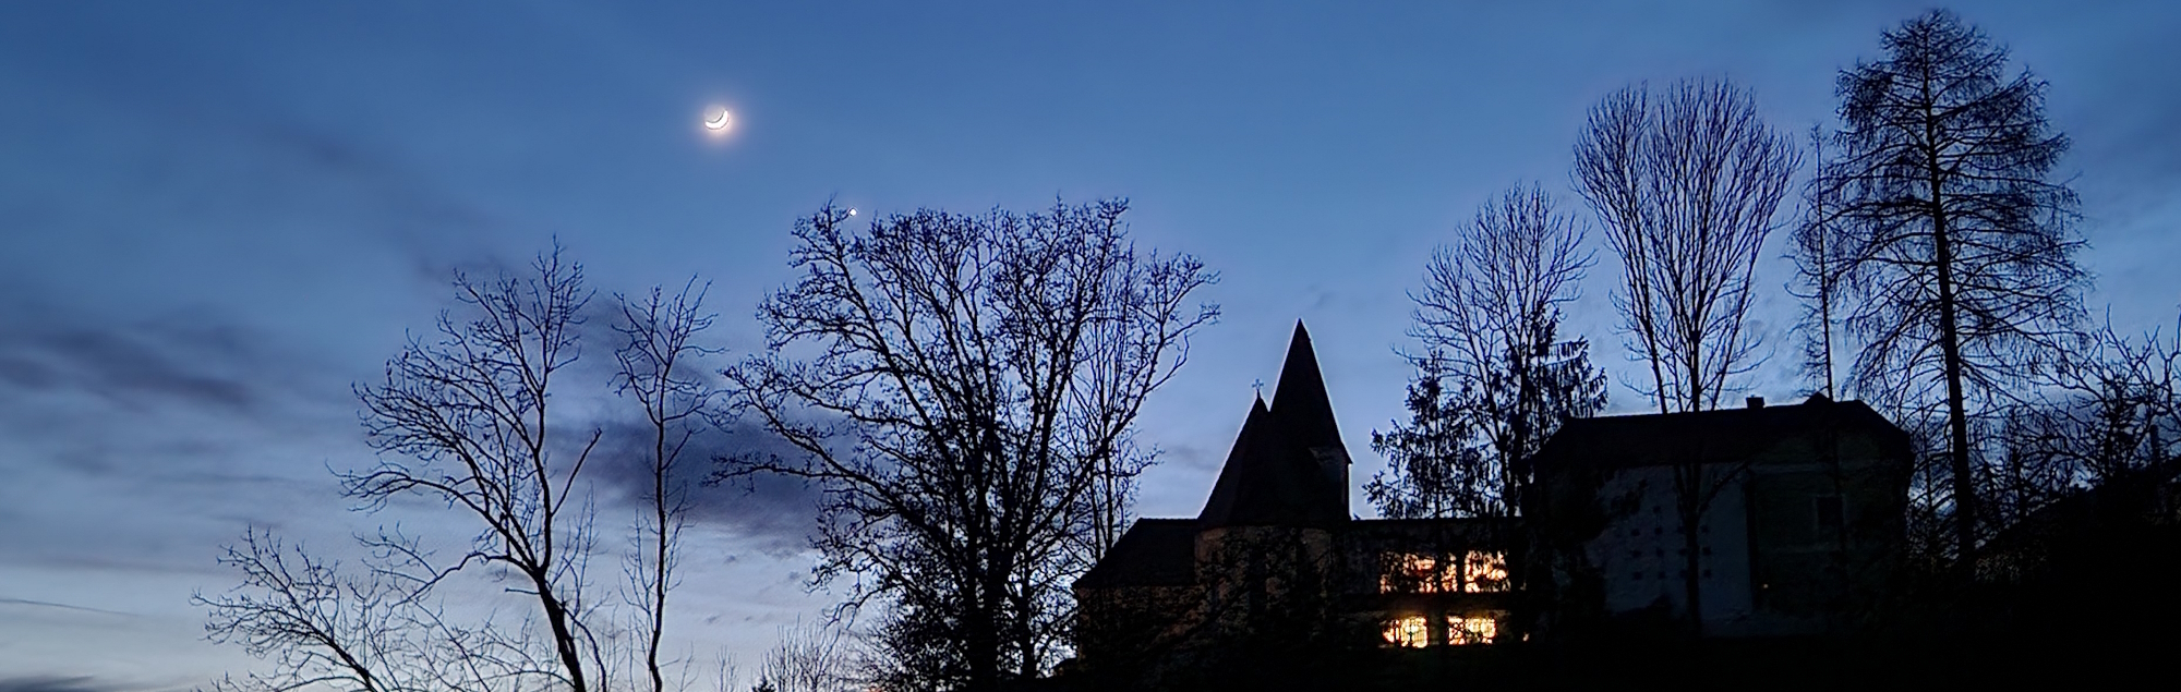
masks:
[[[1825,396],[1570,420],[1533,459],[1533,537],[1564,611],[1686,620],[1695,574],[1706,635],[1839,631],[1897,568],[1911,455]]]

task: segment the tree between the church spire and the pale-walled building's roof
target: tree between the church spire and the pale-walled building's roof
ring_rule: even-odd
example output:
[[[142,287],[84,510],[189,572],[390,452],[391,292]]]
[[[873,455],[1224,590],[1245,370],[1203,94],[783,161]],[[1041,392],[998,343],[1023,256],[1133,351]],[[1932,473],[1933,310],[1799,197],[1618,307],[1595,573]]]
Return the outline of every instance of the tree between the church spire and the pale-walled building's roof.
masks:
[[[1605,407],[1590,344],[1559,339],[1559,307],[1579,296],[1583,231],[1544,189],[1516,187],[1433,252],[1415,300],[1411,424],[1372,435],[1394,459],[1365,490],[1389,516],[1516,516],[1527,459],[1564,418]],[[1407,483],[1402,483],[1407,481]],[[1442,496],[1444,494],[1444,496]],[[1407,501],[1400,501],[1407,496]],[[1450,514],[1439,514],[1450,511]]]

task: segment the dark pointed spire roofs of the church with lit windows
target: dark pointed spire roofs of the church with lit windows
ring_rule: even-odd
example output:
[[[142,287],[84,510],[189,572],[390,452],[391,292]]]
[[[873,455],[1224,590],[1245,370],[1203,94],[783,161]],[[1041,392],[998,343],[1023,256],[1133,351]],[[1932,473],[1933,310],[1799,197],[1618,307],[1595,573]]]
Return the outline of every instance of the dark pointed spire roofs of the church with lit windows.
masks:
[[[1197,522],[1204,527],[1322,527],[1348,520],[1348,448],[1311,333],[1296,322],[1272,407],[1258,398],[1234,435]]]

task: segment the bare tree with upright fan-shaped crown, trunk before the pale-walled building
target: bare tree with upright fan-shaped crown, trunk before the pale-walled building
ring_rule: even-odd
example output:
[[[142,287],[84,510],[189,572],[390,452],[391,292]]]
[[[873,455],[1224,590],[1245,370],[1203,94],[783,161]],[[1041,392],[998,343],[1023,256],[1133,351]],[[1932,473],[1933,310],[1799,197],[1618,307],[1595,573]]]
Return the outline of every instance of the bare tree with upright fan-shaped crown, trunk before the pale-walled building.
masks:
[[[1749,91],[1725,81],[1679,81],[1655,102],[1636,85],[1590,109],[1575,146],[1577,189],[1620,255],[1614,300],[1629,350],[1651,366],[1660,413],[1716,409],[1756,366],[1758,335],[1745,329],[1751,274],[1799,165],[1802,152],[1764,124]],[[1673,466],[1697,633],[1703,514],[1740,472]]]

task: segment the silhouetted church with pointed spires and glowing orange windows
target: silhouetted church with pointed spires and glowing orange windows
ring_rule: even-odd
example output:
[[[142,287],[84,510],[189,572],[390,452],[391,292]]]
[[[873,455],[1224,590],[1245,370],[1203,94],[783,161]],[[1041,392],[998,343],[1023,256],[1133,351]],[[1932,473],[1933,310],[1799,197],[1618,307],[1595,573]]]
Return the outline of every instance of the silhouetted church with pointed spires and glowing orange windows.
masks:
[[[1311,337],[1252,403],[1204,511],[1143,518],[1075,581],[1077,666],[1162,672],[1248,651],[1490,644],[1507,629],[1505,520],[1359,520]]]

